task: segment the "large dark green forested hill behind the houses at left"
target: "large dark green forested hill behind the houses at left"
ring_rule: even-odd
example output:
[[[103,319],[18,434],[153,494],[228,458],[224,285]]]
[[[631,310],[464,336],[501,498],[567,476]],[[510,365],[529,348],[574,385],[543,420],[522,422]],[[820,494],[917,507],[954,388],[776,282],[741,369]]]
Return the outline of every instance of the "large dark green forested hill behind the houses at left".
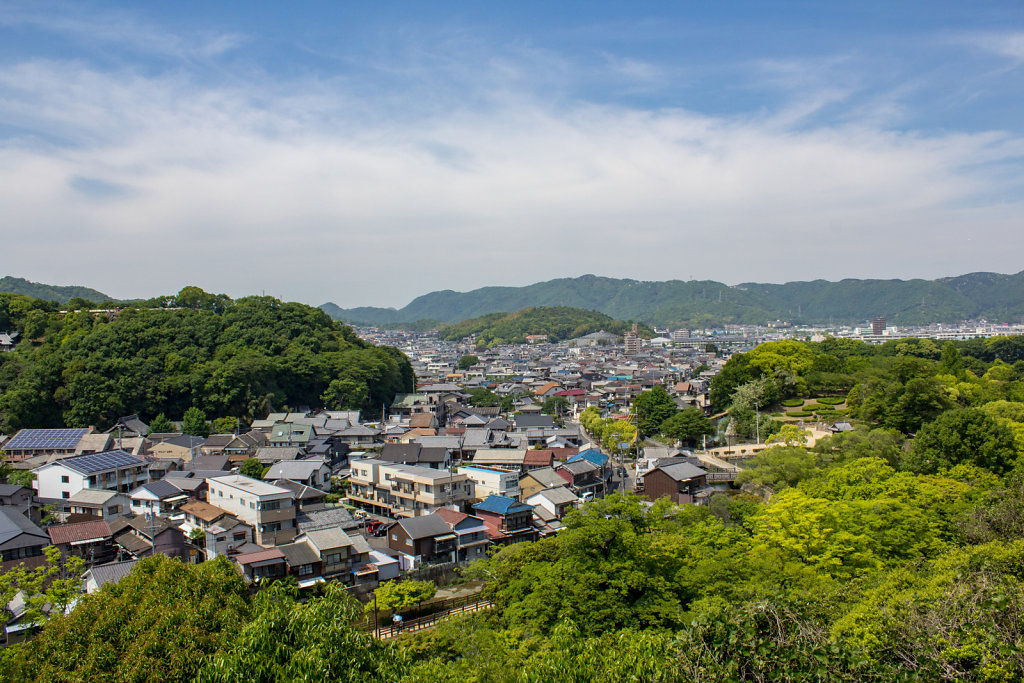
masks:
[[[0,330],[22,339],[0,353],[2,432],[102,429],[133,413],[173,420],[191,407],[247,421],[301,405],[374,413],[414,385],[400,351],[300,303],[188,287],[113,318],[56,307],[0,294]]]

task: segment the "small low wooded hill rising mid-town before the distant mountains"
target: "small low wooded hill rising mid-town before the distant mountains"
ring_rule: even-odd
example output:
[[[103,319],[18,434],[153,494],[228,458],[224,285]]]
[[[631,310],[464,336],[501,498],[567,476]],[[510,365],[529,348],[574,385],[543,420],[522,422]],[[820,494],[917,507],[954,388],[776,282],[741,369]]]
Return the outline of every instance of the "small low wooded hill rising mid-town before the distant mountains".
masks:
[[[452,325],[440,330],[441,339],[457,341],[476,335],[477,344],[525,343],[528,335],[547,335],[553,342],[582,337],[592,332],[604,330],[622,335],[632,327],[630,323],[616,321],[604,313],[568,306],[540,306],[523,308],[514,313],[490,313]],[[642,336],[653,336],[651,330],[643,327]]]

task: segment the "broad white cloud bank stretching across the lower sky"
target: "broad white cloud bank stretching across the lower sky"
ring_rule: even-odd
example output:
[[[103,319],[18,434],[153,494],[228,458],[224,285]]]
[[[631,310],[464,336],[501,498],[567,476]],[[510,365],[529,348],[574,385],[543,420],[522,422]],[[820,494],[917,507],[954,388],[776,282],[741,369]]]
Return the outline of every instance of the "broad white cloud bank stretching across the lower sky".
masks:
[[[426,104],[436,76],[368,93],[340,78],[219,86],[0,67],[0,120],[26,131],[0,142],[6,269],[114,296],[198,284],[400,306],[584,272],[738,283],[1021,267],[1020,138],[809,123],[855,87],[794,65],[770,65],[790,94],[758,116],[546,98],[529,74],[550,55],[530,52],[527,68],[496,58],[465,98]]]

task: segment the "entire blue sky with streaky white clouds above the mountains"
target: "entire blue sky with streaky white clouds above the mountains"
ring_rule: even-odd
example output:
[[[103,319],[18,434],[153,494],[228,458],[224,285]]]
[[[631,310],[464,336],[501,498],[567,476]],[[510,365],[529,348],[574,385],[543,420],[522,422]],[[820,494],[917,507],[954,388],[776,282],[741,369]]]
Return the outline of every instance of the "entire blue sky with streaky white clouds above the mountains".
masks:
[[[401,306],[1024,269],[1024,5],[0,0],[0,274]]]

